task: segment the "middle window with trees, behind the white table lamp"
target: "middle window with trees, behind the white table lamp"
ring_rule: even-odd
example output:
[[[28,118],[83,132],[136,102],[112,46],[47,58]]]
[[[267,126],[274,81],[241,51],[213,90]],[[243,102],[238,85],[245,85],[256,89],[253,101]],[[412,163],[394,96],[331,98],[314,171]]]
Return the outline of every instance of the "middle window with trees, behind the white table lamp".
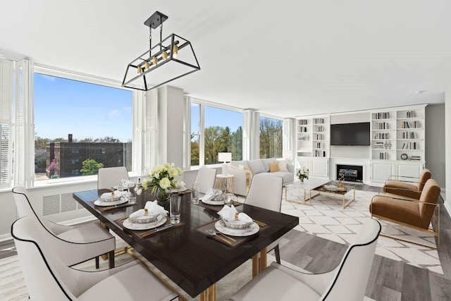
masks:
[[[242,159],[242,112],[192,102],[191,165],[220,163],[218,152]]]

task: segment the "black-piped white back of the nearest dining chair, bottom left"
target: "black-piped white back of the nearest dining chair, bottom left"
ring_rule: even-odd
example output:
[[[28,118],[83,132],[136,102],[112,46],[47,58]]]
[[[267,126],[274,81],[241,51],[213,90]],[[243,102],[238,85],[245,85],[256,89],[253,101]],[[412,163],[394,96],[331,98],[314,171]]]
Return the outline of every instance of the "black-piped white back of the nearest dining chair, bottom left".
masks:
[[[44,242],[42,226],[32,216],[24,216],[11,226],[30,300],[77,300],[61,276],[70,277],[65,266]],[[75,281],[74,281],[75,282]]]

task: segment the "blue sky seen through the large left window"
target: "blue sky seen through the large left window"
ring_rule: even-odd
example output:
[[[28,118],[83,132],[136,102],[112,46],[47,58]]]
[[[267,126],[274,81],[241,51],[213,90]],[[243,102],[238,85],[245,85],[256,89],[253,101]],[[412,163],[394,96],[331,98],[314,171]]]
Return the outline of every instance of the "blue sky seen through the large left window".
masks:
[[[35,73],[35,133],[132,139],[132,92]]]

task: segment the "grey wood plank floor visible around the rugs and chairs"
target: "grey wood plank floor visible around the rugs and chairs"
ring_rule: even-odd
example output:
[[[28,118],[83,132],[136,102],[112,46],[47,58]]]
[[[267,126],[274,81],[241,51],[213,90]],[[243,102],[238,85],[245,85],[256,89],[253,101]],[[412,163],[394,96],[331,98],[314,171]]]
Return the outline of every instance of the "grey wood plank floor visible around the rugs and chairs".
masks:
[[[379,190],[363,184],[353,186],[357,190]],[[443,199],[440,203],[443,204]],[[451,219],[443,207],[440,213],[438,255],[444,275],[376,255],[366,287],[367,297],[383,301],[451,300]],[[280,243],[280,257],[284,261],[311,272],[334,269],[345,250],[345,245],[295,230],[287,233]],[[0,259],[14,254],[16,248],[12,241],[0,242]]]

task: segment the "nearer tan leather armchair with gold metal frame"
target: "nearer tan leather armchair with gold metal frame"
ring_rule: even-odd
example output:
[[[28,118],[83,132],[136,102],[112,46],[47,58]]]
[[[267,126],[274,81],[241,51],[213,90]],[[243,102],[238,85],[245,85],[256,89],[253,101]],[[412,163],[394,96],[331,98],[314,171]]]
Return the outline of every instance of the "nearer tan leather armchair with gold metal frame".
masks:
[[[440,187],[434,179],[429,179],[426,181],[418,200],[389,195],[375,195],[371,199],[369,211],[371,212],[371,217],[397,223],[437,236],[438,249],[438,247],[440,247],[440,204],[437,203],[439,196]],[[433,231],[433,229],[429,228],[435,214],[435,208],[438,208],[438,231]],[[393,238],[388,235],[384,236]],[[402,240],[400,238],[394,239]],[[426,245],[426,247],[430,246]]]

